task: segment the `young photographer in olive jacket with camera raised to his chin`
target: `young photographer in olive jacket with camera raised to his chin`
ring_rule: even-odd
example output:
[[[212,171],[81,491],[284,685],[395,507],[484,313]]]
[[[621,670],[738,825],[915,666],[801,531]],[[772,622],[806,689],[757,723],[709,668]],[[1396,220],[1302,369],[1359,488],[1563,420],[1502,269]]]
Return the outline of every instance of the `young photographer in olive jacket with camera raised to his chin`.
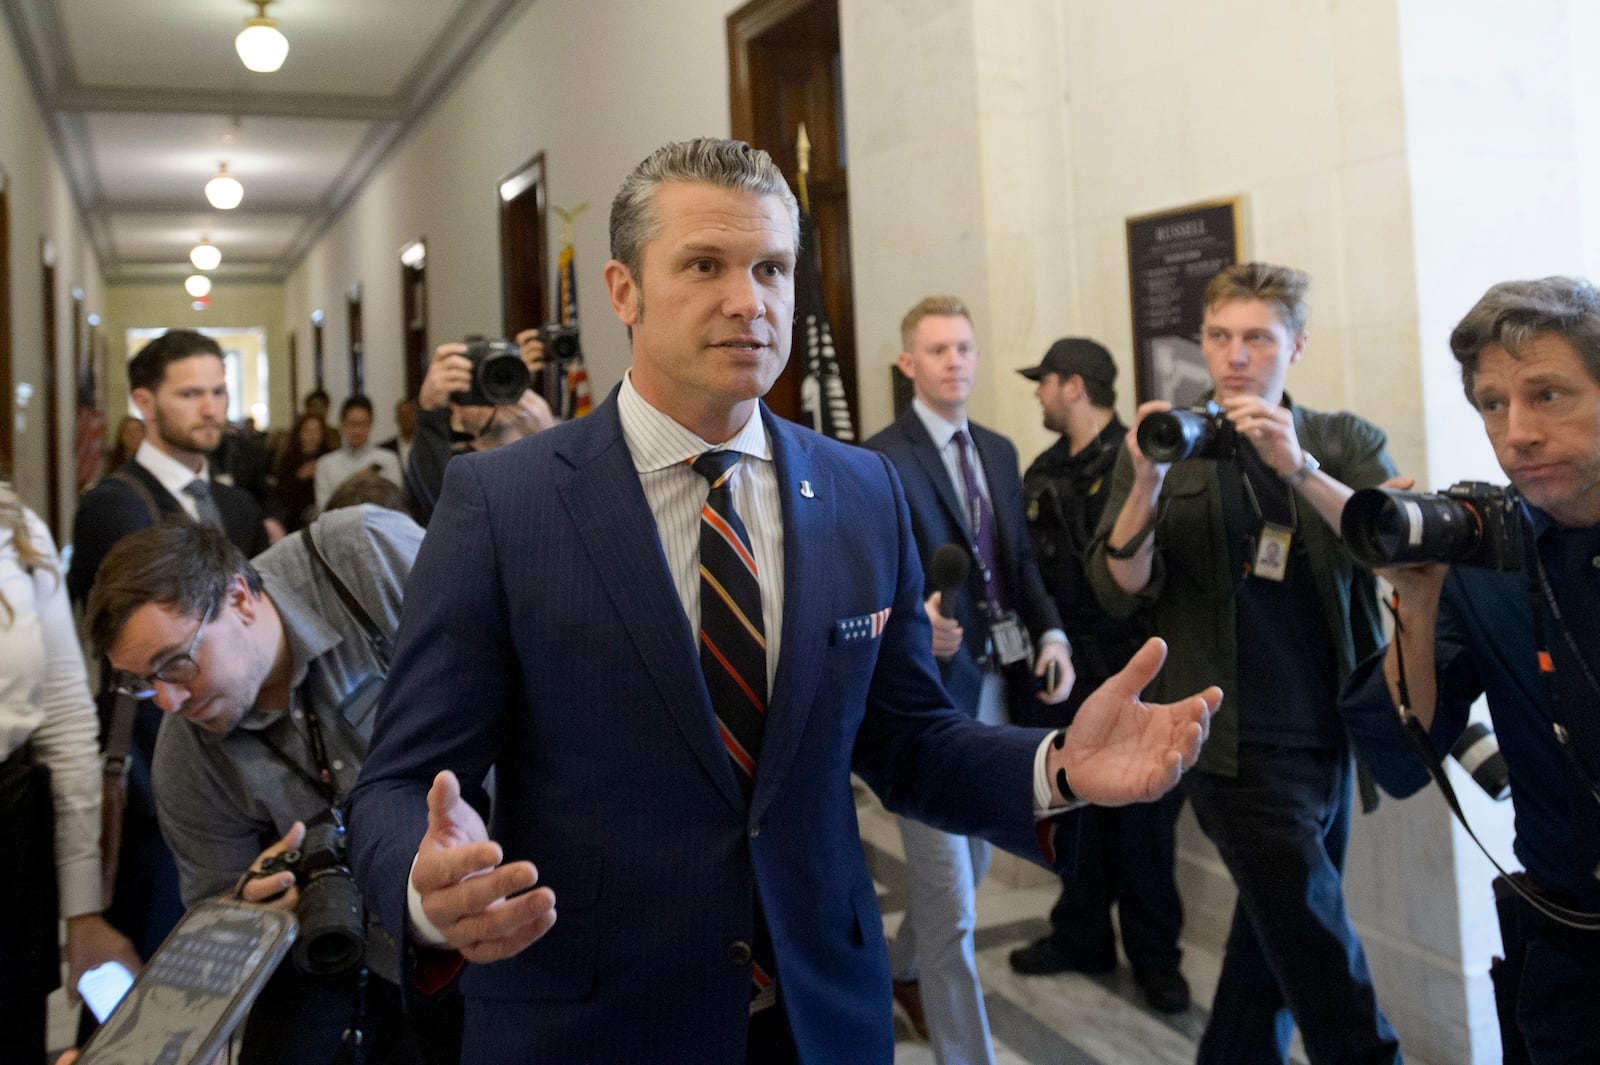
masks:
[[[1400,1060],[1344,907],[1355,771],[1336,712],[1341,681],[1381,640],[1374,582],[1344,550],[1339,515],[1394,464],[1376,425],[1283,392],[1309,285],[1261,262],[1210,281],[1200,347],[1214,406],[1139,406],[1086,563],[1107,612],[1149,608],[1171,646],[1152,697],[1226,692],[1184,780],[1238,886],[1200,1065],[1283,1062],[1291,1022],[1314,1065]],[[1149,454],[1181,435],[1184,448]]]

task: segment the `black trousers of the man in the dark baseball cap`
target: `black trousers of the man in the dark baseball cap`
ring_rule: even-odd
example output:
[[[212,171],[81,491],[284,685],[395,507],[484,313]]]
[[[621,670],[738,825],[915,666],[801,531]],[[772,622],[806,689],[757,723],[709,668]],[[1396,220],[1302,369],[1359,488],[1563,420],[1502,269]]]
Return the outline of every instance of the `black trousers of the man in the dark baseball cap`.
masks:
[[[1086,967],[1117,963],[1110,905],[1134,972],[1171,972],[1182,951],[1184,903],[1173,880],[1174,825],[1184,806],[1173,790],[1155,803],[1090,806],[1078,814],[1078,862],[1061,878],[1050,937]]]

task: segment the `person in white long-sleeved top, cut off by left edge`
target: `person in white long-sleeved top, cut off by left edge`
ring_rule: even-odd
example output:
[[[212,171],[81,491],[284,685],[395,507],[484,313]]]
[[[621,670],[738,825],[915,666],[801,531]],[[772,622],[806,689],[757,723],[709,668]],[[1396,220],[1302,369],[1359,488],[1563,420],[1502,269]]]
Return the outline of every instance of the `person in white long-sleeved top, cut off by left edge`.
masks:
[[[98,728],[56,545],[0,481],[0,1062],[43,1060],[58,911],[69,988],[102,961],[138,971],[101,916]]]

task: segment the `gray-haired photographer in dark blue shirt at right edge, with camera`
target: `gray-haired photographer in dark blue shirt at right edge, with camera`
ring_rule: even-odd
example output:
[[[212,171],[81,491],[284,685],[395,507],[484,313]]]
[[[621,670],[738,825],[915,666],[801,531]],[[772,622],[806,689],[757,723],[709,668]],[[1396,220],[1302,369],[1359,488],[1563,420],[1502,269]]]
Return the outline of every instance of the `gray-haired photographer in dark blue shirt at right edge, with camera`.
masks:
[[[1352,497],[1346,542],[1389,566],[1397,638],[1352,675],[1341,712],[1384,788],[1403,796],[1429,772],[1397,707],[1448,752],[1488,697],[1526,870],[1496,883],[1506,1060],[1595,1062],[1600,293],[1563,277],[1496,285],[1450,347],[1512,489]]]

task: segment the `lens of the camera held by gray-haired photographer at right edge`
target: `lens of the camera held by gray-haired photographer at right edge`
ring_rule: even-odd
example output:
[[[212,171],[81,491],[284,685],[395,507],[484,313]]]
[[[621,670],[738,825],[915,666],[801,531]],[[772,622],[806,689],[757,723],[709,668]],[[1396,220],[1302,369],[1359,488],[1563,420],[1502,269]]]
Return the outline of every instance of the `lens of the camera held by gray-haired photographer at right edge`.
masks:
[[[1344,504],[1339,531],[1365,566],[1466,561],[1478,547],[1478,512],[1450,496],[1363,488]]]

